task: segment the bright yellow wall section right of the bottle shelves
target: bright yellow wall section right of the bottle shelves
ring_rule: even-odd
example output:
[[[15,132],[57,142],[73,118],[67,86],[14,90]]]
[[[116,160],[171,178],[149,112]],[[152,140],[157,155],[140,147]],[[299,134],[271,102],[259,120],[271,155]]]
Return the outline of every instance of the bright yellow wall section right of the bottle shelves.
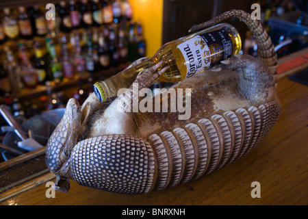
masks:
[[[153,56],[162,47],[163,0],[129,0],[133,8],[133,20],[141,21],[146,56]]]

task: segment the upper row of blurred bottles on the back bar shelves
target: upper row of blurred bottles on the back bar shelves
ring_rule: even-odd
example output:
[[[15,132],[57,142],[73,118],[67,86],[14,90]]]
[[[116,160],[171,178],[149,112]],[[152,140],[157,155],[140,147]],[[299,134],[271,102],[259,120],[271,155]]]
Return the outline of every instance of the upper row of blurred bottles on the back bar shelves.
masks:
[[[4,8],[0,12],[0,44],[46,36],[50,32],[70,33],[81,28],[118,24],[132,18],[131,5],[125,0],[61,1],[55,4],[54,10],[45,7]]]

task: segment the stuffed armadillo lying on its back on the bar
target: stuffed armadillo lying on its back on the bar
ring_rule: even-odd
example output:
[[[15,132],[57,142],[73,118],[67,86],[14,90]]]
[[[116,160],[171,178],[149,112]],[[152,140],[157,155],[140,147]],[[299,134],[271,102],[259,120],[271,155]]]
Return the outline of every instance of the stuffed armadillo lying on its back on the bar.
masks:
[[[192,88],[180,96],[190,100],[188,119],[180,120],[179,112],[170,110],[127,112],[131,101],[140,101],[130,92],[132,86],[107,103],[100,103],[95,94],[82,106],[70,99],[47,144],[46,163],[56,175],[55,188],[67,192],[73,179],[90,188],[125,194],[163,190],[222,168],[263,140],[281,112],[277,55],[267,32],[241,10],[225,12],[192,30],[233,16],[253,32],[259,57],[235,55],[215,71],[172,86]],[[167,70],[161,65],[138,75],[138,91],[149,88]]]

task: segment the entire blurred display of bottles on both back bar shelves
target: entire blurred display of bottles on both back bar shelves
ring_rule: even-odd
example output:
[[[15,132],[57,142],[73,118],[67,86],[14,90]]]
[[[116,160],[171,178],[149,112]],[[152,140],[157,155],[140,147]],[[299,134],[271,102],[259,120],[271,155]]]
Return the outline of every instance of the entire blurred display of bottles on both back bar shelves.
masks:
[[[66,90],[60,94],[54,88],[72,80],[78,83],[74,94],[82,101],[93,92],[97,78],[107,79],[118,73],[113,69],[144,55],[142,25],[132,20],[127,0],[58,1],[55,20],[47,20],[45,6],[0,10],[0,101],[12,109],[19,108],[14,101],[40,94],[42,87],[48,94],[36,96],[36,112],[64,105]],[[21,108],[33,115],[32,105],[29,99]]]

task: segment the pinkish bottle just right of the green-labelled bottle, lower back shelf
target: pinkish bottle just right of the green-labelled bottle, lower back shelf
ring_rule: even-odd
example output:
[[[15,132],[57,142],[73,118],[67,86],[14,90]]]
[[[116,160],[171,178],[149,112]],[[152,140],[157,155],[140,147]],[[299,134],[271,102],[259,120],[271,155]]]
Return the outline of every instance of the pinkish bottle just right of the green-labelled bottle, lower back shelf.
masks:
[[[70,56],[70,53],[68,53],[68,40],[66,36],[62,36],[61,38],[61,49],[62,49],[61,62],[62,62],[64,77],[68,79],[73,78],[75,77],[75,68],[73,64],[74,63],[73,59]]]

